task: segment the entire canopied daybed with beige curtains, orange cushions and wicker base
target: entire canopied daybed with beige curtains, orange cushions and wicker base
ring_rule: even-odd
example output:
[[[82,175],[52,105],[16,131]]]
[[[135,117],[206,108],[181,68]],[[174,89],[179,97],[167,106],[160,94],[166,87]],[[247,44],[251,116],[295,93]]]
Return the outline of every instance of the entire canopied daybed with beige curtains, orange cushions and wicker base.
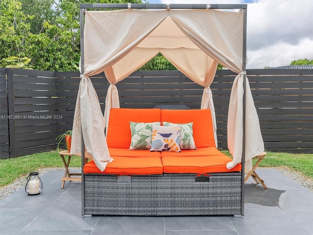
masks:
[[[124,10],[86,10],[102,8]],[[82,214],[243,215],[244,169],[264,151],[246,77],[246,4],[81,4],[80,21],[71,154],[86,150],[93,159],[85,165],[82,158]],[[118,82],[157,53],[203,86],[199,110],[120,109]],[[218,63],[237,73],[227,116],[232,158],[217,150],[210,84]],[[100,72],[110,82],[104,115],[89,78]],[[197,149],[177,145],[187,123]],[[147,149],[133,146],[136,125],[152,132]]]

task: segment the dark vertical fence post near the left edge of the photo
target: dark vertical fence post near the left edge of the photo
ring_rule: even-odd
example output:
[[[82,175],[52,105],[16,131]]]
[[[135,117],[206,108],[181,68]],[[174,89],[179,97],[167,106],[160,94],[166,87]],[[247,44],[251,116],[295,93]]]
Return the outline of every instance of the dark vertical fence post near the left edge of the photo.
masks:
[[[7,96],[8,96],[8,123],[9,123],[9,158],[15,156],[15,123],[14,123],[14,102],[13,102],[13,72],[6,69]],[[11,118],[9,118],[11,117]]]

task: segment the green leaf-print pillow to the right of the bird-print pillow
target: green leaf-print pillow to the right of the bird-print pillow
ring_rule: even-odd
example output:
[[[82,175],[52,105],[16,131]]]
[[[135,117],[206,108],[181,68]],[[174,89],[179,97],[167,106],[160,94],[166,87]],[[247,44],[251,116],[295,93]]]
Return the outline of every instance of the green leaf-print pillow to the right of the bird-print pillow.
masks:
[[[197,149],[195,145],[195,140],[193,137],[193,131],[192,131],[192,126],[193,122],[189,123],[172,123],[172,122],[167,122],[163,121],[162,122],[164,126],[174,126],[174,125],[179,125],[181,130],[180,130],[180,136],[179,136],[179,147],[180,149]]]

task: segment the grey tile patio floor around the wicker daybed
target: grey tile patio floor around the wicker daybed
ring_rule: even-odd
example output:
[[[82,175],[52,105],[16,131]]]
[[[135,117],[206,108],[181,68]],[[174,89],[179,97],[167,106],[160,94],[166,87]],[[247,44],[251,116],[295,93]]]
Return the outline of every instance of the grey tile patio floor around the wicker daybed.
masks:
[[[41,176],[42,193],[19,189],[0,201],[0,235],[313,235],[313,192],[274,169],[258,174],[268,189],[245,185],[245,215],[81,215],[81,182],[66,182],[63,170]]]

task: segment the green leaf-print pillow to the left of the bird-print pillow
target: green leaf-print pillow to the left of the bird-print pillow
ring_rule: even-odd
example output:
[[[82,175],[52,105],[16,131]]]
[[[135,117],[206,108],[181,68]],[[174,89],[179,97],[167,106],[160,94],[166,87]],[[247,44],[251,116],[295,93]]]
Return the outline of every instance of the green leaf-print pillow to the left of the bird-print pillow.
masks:
[[[129,150],[150,149],[152,137],[152,125],[160,125],[161,122],[132,122],[130,127],[132,141]]]

